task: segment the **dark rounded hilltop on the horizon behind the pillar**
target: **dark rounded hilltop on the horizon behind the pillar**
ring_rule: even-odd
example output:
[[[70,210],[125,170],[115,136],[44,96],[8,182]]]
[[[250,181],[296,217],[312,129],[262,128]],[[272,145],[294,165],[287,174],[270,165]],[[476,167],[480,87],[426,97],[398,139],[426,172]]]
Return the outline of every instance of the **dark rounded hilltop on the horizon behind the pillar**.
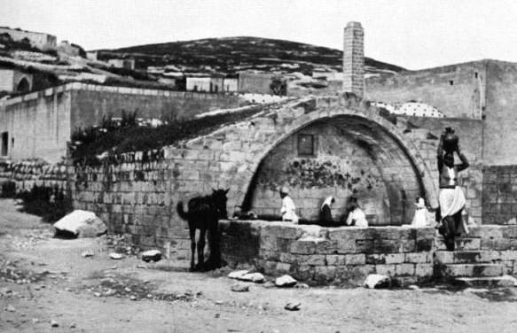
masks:
[[[135,58],[136,66],[177,66],[184,72],[235,74],[241,70],[312,73],[315,68],[341,72],[342,51],[258,37],[208,38],[186,42],[98,50],[99,59]],[[365,58],[366,73],[400,72],[403,67]]]

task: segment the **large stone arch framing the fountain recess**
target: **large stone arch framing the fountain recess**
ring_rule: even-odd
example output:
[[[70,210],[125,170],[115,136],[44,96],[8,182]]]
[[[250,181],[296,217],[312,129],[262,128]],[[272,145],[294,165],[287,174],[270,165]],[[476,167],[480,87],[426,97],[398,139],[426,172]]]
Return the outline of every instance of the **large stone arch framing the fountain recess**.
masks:
[[[370,141],[378,154],[385,154],[385,160],[390,158],[388,155],[405,159],[407,163],[403,172],[414,174],[419,182],[418,190],[427,197],[428,204],[437,206],[437,189],[430,176],[430,167],[411,138],[404,136],[394,124],[381,117],[377,108],[367,103],[356,103],[355,98],[311,97],[272,110],[266,109],[250,120],[192,140],[187,146],[200,150],[211,148],[212,145],[218,147],[208,167],[208,170],[216,170],[218,173],[207,175],[210,181],[207,186],[231,188],[228,201],[231,212],[235,205],[242,205],[245,201],[262,160],[289,136],[321,121],[352,121],[358,129],[348,128],[349,136],[363,136],[364,141]],[[383,140],[390,140],[395,145],[383,147]],[[408,171],[408,166],[411,171]],[[399,176],[401,170],[397,166],[386,172],[386,176],[395,177],[395,182],[403,182],[403,177]]]

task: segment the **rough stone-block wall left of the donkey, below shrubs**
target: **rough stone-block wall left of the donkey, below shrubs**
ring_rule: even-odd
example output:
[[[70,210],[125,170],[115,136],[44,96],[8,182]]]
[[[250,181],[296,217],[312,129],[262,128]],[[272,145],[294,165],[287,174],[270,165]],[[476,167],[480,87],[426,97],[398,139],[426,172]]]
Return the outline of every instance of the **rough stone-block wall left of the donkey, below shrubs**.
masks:
[[[190,246],[186,222],[172,219],[176,203],[192,192],[194,171],[162,151],[124,153],[97,166],[75,166],[75,209],[95,212],[108,232],[130,236],[143,247],[159,246],[184,259]]]

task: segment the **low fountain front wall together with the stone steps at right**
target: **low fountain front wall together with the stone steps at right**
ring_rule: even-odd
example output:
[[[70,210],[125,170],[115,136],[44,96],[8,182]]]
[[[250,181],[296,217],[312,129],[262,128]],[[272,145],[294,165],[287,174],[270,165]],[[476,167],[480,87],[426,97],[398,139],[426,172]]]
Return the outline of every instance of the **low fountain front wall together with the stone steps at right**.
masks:
[[[221,221],[223,259],[314,284],[359,286],[368,274],[398,283],[433,277],[517,274],[517,226],[470,228],[457,251],[435,228],[321,228],[286,222]],[[487,265],[488,264],[488,265]],[[496,265],[494,265],[496,264]]]

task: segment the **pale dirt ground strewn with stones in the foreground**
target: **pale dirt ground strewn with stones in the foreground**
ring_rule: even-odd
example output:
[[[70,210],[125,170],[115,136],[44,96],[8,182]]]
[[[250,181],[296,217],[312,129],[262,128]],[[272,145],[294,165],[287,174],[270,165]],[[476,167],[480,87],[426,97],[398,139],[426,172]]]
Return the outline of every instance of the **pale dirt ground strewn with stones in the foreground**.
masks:
[[[52,238],[50,225],[0,200],[0,332],[517,332],[516,290],[234,292],[228,270],[110,259],[108,241]],[[289,301],[300,311],[285,310]]]

